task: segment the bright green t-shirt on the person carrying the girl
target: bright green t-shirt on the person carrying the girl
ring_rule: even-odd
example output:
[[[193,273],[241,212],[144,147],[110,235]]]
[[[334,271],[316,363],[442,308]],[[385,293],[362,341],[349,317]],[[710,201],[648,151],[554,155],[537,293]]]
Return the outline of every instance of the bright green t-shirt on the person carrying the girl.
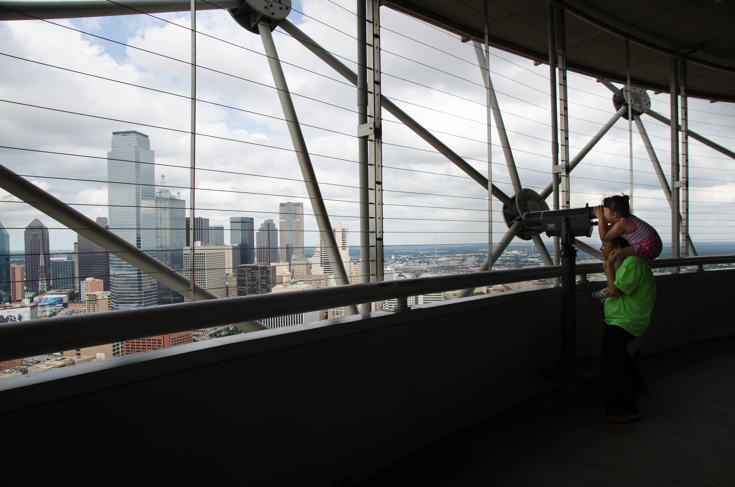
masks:
[[[656,282],[648,262],[627,257],[615,273],[615,287],[623,294],[605,300],[605,322],[638,336],[648,327],[656,302]]]

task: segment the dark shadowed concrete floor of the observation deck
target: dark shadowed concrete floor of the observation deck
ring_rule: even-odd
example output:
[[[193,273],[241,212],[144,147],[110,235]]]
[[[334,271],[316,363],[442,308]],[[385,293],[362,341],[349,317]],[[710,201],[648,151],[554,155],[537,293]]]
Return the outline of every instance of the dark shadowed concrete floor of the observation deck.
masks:
[[[368,485],[735,486],[735,337],[637,363],[648,382],[638,423],[602,422],[535,397],[399,465]]]

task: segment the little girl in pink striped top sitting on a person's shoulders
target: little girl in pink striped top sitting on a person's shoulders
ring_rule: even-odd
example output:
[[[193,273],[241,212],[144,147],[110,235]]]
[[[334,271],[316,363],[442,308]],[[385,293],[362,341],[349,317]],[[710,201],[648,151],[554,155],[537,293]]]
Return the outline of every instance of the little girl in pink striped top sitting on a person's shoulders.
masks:
[[[614,238],[623,237],[630,246],[621,250],[622,258],[617,260],[618,266],[625,257],[635,255],[645,260],[653,260],[661,254],[661,237],[659,232],[645,221],[631,214],[630,196],[609,196],[602,200],[602,205],[595,207],[595,216],[598,218],[600,241],[609,242]],[[598,296],[598,294],[600,296]],[[595,297],[609,296],[609,290],[604,289],[593,294]]]

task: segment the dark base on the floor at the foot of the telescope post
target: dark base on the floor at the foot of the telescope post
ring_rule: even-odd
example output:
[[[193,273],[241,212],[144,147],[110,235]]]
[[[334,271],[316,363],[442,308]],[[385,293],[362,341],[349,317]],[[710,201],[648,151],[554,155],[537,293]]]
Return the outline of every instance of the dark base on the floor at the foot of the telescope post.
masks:
[[[575,366],[556,365],[543,369],[541,374],[556,380],[570,408],[589,408],[600,401],[600,360],[597,358],[580,358]]]

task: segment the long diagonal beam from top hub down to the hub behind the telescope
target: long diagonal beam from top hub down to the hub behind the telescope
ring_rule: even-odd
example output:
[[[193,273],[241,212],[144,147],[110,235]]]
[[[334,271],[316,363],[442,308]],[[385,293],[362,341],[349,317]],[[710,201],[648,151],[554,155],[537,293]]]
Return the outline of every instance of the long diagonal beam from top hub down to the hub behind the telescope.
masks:
[[[297,26],[291,24],[287,20],[284,20],[279,22],[279,27],[281,27],[288,35],[295,38],[295,40],[298,40],[298,42],[306,47],[306,49],[312,51],[313,54],[315,54],[320,60],[323,60],[325,63],[327,63],[331,68],[334,69],[334,71],[337,71],[337,73],[341,74],[353,85],[357,85],[357,74],[354,71],[345,66],[332,54],[329,54],[329,52],[327,52],[315,40],[309,38],[308,35],[304,34],[304,32],[302,32],[301,29],[299,29]],[[381,103],[382,107],[387,110],[388,113],[395,116],[395,118],[398,118],[398,120],[401,121],[401,123],[405,124],[406,127],[412,129],[416,135],[418,135],[420,138],[423,138],[423,140],[434,147],[434,149],[437,149],[438,152],[443,154],[445,157],[447,157],[448,160],[450,160],[457,167],[462,169],[462,171],[464,171],[467,176],[475,179],[478,184],[487,189],[487,177],[484,177],[479,171],[477,171],[464,159],[462,159],[462,157],[459,157],[459,155],[455,154],[444,143],[442,143],[442,141],[434,137],[434,135],[431,134],[429,130],[421,127],[421,125],[417,121],[411,118],[403,110],[398,108],[398,106],[396,106],[395,103],[391,102],[390,99],[387,99],[385,96],[383,96],[381,98]],[[506,193],[503,193],[500,188],[493,185],[492,183],[490,183],[490,185],[492,187],[492,196],[495,196],[495,198],[508,205],[512,205],[514,203],[512,199],[510,199],[510,197],[506,195]]]

